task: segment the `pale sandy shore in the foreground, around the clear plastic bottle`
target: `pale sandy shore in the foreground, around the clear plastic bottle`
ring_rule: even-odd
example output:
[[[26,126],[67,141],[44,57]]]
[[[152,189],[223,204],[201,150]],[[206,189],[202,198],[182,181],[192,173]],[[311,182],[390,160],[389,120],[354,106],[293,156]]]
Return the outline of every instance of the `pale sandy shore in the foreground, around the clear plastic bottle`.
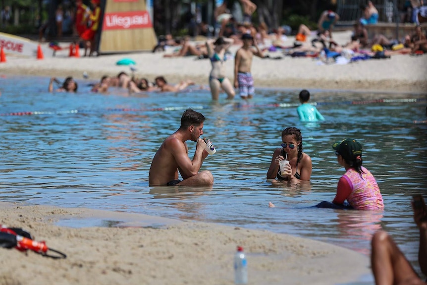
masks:
[[[55,225],[69,219],[75,225],[87,219],[121,223],[110,228]],[[0,221],[24,228],[35,240],[67,254],[66,259],[51,259],[1,249],[1,285],[231,285],[237,245],[247,253],[249,284],[331,285],[370,275],[366,256],[268,231],[16,203],[0,203]]]

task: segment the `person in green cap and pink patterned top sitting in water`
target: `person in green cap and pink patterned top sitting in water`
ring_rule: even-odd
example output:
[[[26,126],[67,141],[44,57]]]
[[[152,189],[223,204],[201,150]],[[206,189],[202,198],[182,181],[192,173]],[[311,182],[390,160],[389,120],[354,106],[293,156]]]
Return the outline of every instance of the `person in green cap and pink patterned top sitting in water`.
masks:
[[[338,181],[332,203],[321,202],[318,208],[378,210],[384,209],[381,192],[371,171],[362,166],[362,145],[355,139],[333,144],[338,163],[346,170]],[[347,203],[345,203],[347,200]]]

